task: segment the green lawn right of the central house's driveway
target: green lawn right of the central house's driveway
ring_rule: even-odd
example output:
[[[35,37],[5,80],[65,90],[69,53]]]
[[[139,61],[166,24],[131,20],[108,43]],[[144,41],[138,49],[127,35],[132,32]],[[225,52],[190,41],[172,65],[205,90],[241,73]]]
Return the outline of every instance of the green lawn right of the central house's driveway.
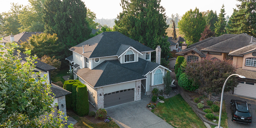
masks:
[[[202,120],[196,115],[180,94],[164,99],[163,101],[165,101],[165,103],[159,102],[152,112],[173,127],[206,128]]]

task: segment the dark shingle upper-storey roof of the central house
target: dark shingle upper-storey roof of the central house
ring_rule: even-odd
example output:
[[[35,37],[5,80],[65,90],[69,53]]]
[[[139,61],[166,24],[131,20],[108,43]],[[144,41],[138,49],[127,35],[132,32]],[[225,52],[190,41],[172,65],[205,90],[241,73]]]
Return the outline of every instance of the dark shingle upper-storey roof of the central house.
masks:
[[[83,45],[85,53],[83,53]],[[102,32],[93,38],[71,47],[70,50],[88,58],[96,58],[117,56],[121,52],[125,51],[124,45],[132,46],[140,52],[154,51],[154,49],[147,47],[138,41],[132,40],[131,38],[116,31]]]

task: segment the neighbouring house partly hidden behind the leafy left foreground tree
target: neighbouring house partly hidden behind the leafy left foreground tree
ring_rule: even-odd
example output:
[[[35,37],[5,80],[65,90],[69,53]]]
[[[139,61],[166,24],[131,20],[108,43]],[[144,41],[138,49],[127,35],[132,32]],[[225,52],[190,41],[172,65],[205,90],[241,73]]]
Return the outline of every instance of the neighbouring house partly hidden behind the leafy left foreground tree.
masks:
[[[14,56],[17,56],[17,51],[14,52]],[[21,63],[25,63],[26,62],[26,55],[23,53],[20,53],[20,58],[21,58]],[[47,84],[51,84],[51,90],[53,92],[53,94],[55,94],[55,96],[53,94],[50,94],[52,97],[54,97],[54,102],[53,102],[53,106],[55,103],[57,103],[58,105],[55,106],[56,110],[62,111],[64,113],[64,117],[67,116],[67,112],[66,112],[66,98],[65,96],[70,94],[69,91],[63,89],[62,87],[55,85],[52,83],[51,81],[51,72],[52,70],[55,70],[56,68],[48,65],[47,63],[44,63],[42,61],[39,60],[35,60],[37,63],[34,63],[35,68],[34,68],[34,72],[41,72],[40,77],[44,77],[44,75],[46,75],[47,77],[47,81],[43,82],[43,83],[47,83]],[[57,116],[58,111],[54,112],[54,117]]]

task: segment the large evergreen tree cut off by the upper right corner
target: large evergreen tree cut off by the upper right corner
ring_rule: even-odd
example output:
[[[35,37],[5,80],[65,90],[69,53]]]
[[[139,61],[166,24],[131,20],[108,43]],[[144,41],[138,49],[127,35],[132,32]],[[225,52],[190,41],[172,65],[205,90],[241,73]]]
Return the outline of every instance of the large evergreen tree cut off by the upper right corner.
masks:
[[[237,0],[237,5],[229,18],[227,31],[230,34],[247,33],[256,36],[256,2],[255,0]]]

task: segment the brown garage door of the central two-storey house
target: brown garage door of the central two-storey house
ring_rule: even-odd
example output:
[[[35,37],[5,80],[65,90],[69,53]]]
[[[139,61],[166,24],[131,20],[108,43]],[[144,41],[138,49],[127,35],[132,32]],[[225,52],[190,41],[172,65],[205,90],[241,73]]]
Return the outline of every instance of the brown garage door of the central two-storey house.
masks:
[[[104,108],[134,101],[134,88],[104,94]]]

